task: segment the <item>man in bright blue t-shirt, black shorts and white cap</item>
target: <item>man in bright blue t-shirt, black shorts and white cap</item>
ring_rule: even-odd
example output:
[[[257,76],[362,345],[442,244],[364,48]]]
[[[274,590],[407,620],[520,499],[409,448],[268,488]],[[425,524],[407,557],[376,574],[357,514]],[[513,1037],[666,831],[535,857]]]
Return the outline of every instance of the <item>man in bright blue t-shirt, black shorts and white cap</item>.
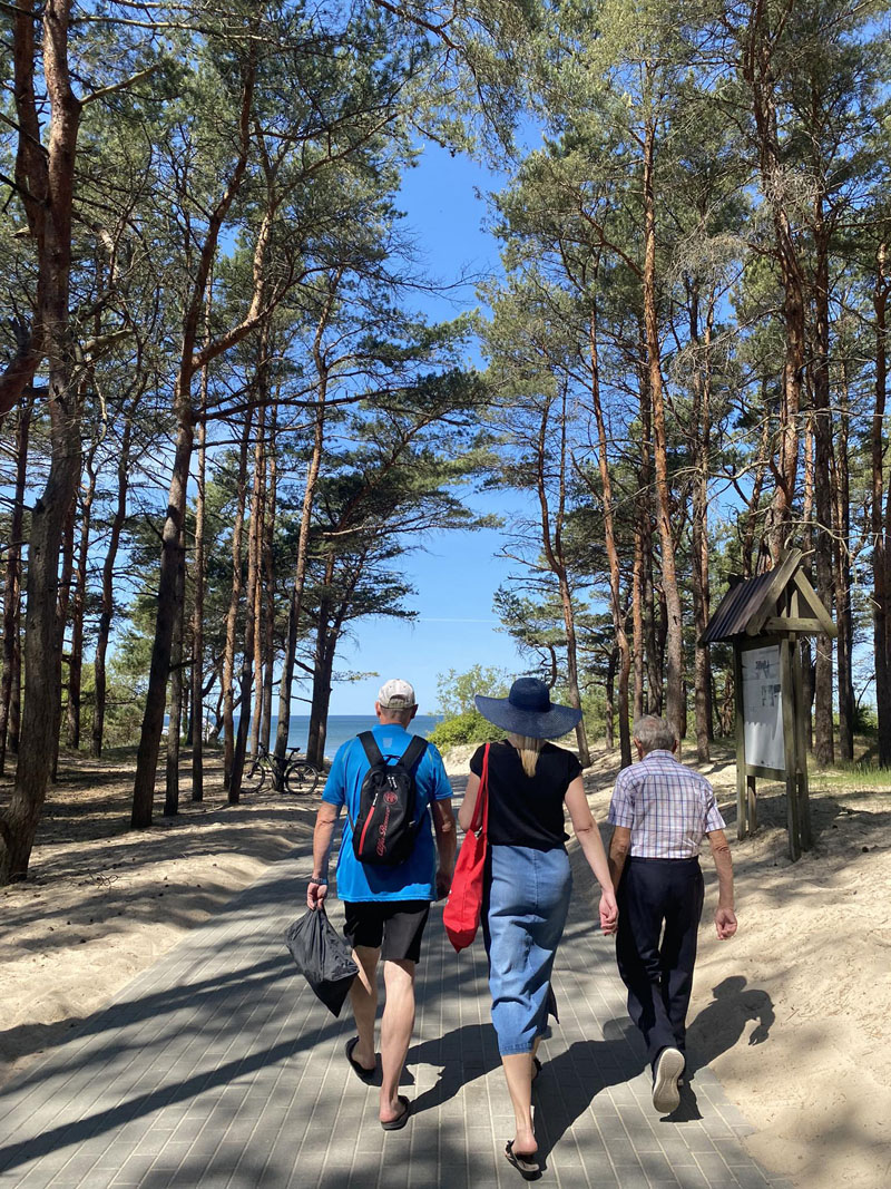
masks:
[[[387,763],[396,763],[412,741],[407,726],[417,713],[415,690],[407,681],[385,681],[374,712],[374,742]],[[398,1093],[415,1025],[415,967],[421,955],[430,901],[448,895],[455,866],[455,818],[451,785],[442,756],[432,744],[417,765],[415,845],[409,857],[394,866],[368,866],[353,851],[353,828],[359,812],[362,780],[371,762],[356,737],[343,743],[334,757],[312,835],[312,879],[307,904],[318,908],[328,894],[328,855],[334,826],[343,806],[337,895],[346,908],[345,933],[353,946],[359,976],[350,989],[356,1037],[347,1042],[347,1061],[366,1084],[375,1078],[374,1020],[378,1009],[378,962],[384,960],[386,1002],[380,1027],[380,1125],[398,1131],[409,1120],[411,1103]],[[430,830],[432,819],[436,832]],[[438,857],[438,862],[437,862]]]

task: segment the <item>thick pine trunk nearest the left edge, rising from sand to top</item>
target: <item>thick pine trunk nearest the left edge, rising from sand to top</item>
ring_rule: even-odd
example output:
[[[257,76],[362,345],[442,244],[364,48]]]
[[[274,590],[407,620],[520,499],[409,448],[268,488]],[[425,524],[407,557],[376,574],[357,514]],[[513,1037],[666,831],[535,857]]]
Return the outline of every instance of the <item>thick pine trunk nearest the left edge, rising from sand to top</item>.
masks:
[[[58,559],[81,466],[81,405],[72,383],[69,325],[71,210],[81,105],[71,90],[68,30],[71,0],[45,0],[43,70],[50,105],[48,145],[34,94],[32,0],[13,24],[15,111],[20,125],[15,175],[26,194],[37,245],[37,338],[48,358],[50,472],[31,512],[25,612],[25,705],[11,800],[0,811],[0,885],[25,879],[58,743],[64,625],[58,617]],[[37,360],[34,360],[36,366]],[[33,372],[32,372],[33,375]],[[20,395],[14,394],[12,403]],[[10,408],[11,405],[6,405]],[[5,411],[5,410],[4,410]]]

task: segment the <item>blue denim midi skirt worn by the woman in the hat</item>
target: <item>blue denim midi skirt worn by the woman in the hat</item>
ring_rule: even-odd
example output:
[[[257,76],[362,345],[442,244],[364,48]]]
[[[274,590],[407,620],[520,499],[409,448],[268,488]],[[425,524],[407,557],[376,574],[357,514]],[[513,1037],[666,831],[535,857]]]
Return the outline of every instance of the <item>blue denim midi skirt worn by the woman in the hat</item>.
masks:
[[[531,1052],[546,1026],[554,955],[573,875],[562,849],[491,847],[484,936],[492,1023],[501,1056]]]

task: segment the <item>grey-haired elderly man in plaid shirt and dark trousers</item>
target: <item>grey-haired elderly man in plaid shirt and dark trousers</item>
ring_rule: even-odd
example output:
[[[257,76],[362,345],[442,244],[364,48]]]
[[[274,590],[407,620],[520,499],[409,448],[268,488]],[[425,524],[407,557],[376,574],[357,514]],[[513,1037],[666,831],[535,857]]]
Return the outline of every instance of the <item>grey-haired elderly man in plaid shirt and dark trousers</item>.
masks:
[[[703,836],[718,869],[715,927],[721,940],[737,932],[733,862],[714,789],[675,759],[671,725],[645,715],[633,734],[639,763],[619,773],[607,818],[614,826],[609,869],[619,904],[615,956],[628,989],[628,1014],[646,1042],[653,1106],[669,1114],[681,1102],[703,901]]]

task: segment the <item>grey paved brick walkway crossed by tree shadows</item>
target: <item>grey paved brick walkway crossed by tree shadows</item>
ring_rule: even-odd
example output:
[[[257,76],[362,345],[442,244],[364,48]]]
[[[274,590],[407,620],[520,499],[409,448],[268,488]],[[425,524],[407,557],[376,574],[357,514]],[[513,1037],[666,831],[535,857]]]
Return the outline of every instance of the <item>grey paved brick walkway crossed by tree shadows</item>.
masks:
[[[282,943],[309,858],[274,864],[0,1095],[4,1189],[518,1189],[482,945],[456,956],[434,908],[405,1072],[413,1114],[387,1134],[377,1090],[343,1057],[348,1007],[335,1020]],[[543,1183],[781,1189],[746,1155],[751,1128],[708,1068],[671,1119],[653,1112],[582,867],[576,853],[561,1019],[536,1087]]]

